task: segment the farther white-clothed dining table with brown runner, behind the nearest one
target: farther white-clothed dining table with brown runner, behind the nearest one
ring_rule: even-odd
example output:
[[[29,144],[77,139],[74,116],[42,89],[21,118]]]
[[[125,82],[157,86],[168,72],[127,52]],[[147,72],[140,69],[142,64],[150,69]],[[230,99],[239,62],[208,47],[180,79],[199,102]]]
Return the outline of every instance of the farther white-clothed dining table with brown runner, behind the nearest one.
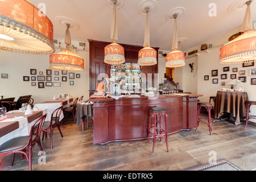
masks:
[[[47,109],[46,121],[51,121],[52,113],[60,106],[69,107],[73,104],[73,98],[63,98],[61,100],[48,100],[35,104],[34,108],[36,109]],[[64,118],[63,112],[60,114],[60,121]]]

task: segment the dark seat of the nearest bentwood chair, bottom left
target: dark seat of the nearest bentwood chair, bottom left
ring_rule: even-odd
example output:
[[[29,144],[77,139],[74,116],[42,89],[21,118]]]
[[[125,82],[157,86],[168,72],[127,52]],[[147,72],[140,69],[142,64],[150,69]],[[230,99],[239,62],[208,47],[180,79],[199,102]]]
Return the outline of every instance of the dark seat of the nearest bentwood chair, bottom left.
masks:
[[[36,136],[33,136],[33,140],[35,139]],[[8,140],[7,142],[3,143],[0,146],[0,153],[3,152],[8,152],[11,150],[16,150],[18,148],[22,148],[24,146],[26,146],[27,142],[28,142],[28,138],[29,136],[23,136],[23,137],[16,137],[13,139]]]

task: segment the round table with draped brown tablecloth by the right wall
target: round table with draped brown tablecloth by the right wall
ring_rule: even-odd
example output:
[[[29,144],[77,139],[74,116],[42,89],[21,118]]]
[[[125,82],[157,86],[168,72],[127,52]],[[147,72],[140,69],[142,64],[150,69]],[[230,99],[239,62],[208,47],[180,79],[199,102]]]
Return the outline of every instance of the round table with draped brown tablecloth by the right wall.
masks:
[[[245,101],[248,101],[247,92],[218,91],[214,104],[214,117],[220,118],[226,113],[236,117],[235,124],[240,125],[240,117],[246,116]]]

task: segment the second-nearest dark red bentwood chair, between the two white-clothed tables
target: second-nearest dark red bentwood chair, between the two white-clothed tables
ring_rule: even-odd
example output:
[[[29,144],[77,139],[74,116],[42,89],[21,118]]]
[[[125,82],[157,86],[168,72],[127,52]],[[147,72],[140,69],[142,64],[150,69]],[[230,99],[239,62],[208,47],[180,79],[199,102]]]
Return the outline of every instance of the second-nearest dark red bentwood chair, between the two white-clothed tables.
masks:
[[[49,137],[51,138],[51,150],[53,148],[53,139],[52,139],[52,137],[53,137],[53,131],[54,131],[55,127],[58,128],[58,130],[60,131],[61,137],[63,137],[63,134],[61,133],[61,130],[60,130],[60,114],[62,112],[63,112],[63,106],[57,108],[52,113],[51,121],[44,122],[44,125],[43,125],[43,129],[42,129],[43,138],[42,138],[42,140],[44,140],[44,136],[47,138],[47,134],[49,134]]]

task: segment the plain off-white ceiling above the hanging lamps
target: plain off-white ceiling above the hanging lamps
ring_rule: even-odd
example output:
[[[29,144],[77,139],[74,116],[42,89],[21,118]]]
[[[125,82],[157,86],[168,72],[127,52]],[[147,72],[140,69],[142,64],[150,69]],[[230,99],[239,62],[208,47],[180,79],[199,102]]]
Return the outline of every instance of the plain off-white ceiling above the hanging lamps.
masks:
[[[166,19],[168,11],[182,6],[186,12],[178,17],[178,36],[188,38],[181,45],[183,51],[204,43],[208,39],[240,27],[245,8],[229,13],[229,6],[238,0],[156,0],[158,6],[150,15],[150,42],[152,47],[171,49],[174,22]],[[244,1],[244,0],[239,0]],[[46,3],[46,14],[54,27],[54,38],[63,39],[65,27],[55,21],[56,16],[68,16],[80,25],[79,31],[71,30],[72,40],[87,39],[110,42],[112,9],[106,0],[30,0],[35,6]],[[125,0],[117,10],[118,42],[143,45],[145,16],[138,12],[142,0]],[[217,17],[208,15],[209,3],[216,3]],[[253,20],[256,20],[256,3],[251,5]],[[228,39],[228,38],[227,38]]]

